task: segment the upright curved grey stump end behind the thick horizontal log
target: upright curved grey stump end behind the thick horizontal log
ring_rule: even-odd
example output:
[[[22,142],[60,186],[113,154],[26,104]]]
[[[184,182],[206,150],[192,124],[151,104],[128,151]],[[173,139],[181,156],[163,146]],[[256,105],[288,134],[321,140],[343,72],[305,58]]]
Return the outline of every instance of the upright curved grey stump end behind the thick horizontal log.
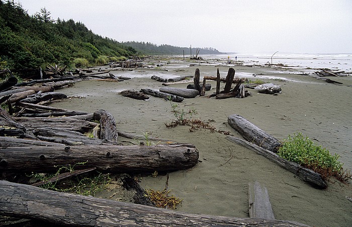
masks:
[[[105,110],[97,110],[94,119],[100,121],[100,138],[116,142],[118,133],[115,118]]]

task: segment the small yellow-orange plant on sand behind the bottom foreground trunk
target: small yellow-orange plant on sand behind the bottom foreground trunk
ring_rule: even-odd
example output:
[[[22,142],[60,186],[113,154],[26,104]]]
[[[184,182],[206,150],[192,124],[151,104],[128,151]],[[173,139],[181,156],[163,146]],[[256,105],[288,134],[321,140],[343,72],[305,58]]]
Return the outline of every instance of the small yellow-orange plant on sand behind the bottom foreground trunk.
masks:
[[[171,190],[165,188],[162,191],[155,191],[153,189],[145,190],[144,196],[149,198],[150,201],[154,202],[157,207],[160,208],[172,208],[176,209],[176,207],[181,203],[183,199],[176,198],[173,195],[168,196],[167,194]]]

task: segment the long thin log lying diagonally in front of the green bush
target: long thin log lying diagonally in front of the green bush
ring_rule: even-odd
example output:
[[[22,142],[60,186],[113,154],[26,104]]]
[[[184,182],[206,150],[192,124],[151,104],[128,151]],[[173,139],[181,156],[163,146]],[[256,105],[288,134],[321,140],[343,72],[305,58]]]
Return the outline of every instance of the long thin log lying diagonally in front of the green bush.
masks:
[[[251,142],[248,142],[248,141],[245,141],[243,139],[236,138],[233,136],[227,136],[226,138],[236,144],[245,146],[248,149],[253,150],[258,155],[266,157],[267,159],[269,159],[273,163],[276,163],[279,166],[281,166],[282,168],[284,168],[285,170],[296,174],[301,180],[308,182],[309,184],[312,184],[315,187],[322,188],[322,189],[327,187],[327,184],[322,179],[321,175],[318,173],[315,173],[314,171],[312,171],[310,169],[304,168],[304,167],[298,165],[297,163],[290,162],[286,159],[283,159],[280,156],[278,156],[277,154],[271,152],[270,150],[265,149],[263,147],[259,147],[258,145],[254,144],[254,143],[251,143]]]

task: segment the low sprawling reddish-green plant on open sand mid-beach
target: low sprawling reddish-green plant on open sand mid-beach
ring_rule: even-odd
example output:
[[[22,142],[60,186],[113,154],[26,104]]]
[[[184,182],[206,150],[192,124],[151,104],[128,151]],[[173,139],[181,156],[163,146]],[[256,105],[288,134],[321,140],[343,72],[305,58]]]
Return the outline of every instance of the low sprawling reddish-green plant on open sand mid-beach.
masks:
[[[171,121],[171,123],[165,123],[167,128],[173,128],[178,125],[188,125],[191,126],[190,132],[193,132],[198,129],[208,129],[211,132],[219,132],[225,135],[229,135],[230,133],[227,131],[217,130],[214,126],[210,124],[212,120],[202,121],[200,119],[193,118],[193,115],[197,114],[197,110],[193,107],[190,108],[188,111],[184,109],[178,108],[179,106],[175,103],[171,102],[171,97],[169,97],[169,102],[171,105],[173,116],[176,118],[175,120]]]

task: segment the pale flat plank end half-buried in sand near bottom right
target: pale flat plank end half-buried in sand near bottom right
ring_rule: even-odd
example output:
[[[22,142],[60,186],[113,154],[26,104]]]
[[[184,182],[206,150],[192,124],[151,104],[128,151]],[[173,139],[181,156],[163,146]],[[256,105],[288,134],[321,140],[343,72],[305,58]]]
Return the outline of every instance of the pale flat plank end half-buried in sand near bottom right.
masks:
[[[249,217],[275,219],[268,189],[255,181],[248,186]]]

